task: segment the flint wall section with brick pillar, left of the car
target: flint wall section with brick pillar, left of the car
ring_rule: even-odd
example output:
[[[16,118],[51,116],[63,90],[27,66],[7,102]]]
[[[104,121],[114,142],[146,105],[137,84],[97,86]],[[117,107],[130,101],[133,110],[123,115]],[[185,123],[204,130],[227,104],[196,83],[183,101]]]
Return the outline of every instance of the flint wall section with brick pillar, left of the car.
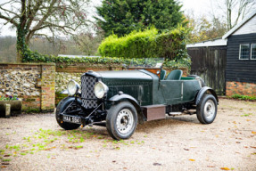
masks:
[[[0,95],[17,95],[22,110],[54,111],[55,64],[0,63]]]

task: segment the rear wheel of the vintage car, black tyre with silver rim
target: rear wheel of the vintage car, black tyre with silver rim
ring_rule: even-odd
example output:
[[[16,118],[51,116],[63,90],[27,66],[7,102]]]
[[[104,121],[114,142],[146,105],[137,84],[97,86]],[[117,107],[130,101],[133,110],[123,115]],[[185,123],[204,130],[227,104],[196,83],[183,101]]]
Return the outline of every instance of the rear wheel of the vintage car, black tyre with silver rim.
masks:
[[[196,116],[202,124],[211,124],[217,115],[217,101],[212,94],[204,94],[196,106]]]

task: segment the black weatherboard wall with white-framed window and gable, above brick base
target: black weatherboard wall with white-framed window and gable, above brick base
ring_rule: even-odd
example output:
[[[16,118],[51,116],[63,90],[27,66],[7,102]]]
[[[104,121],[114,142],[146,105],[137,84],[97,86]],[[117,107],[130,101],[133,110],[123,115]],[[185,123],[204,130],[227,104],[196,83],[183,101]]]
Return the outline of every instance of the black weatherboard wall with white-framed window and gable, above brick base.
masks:
[[[227,39],[227,82],[256,84],[256,11],[222,38]]]

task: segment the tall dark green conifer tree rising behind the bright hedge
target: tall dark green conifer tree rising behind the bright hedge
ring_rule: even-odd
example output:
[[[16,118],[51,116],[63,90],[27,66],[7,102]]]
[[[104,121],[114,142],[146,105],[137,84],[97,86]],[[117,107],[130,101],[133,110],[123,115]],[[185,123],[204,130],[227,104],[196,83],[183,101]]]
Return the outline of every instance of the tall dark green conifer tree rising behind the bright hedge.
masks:
[[[183,23],[182,5],[176,0],[103,0],[96,18],[105,36],[123,36],[154,26],[163,31]]]

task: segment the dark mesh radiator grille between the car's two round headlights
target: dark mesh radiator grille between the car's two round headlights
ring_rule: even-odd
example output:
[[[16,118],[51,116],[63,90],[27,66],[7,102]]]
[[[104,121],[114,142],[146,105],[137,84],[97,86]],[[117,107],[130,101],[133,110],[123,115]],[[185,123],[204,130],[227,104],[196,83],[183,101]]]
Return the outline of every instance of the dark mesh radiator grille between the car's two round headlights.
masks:
[[[96,77],[81,77],[82,106],[86,109],[93,109],[97,107],[97,100],[94,93],[94,87],[96,82]]]

